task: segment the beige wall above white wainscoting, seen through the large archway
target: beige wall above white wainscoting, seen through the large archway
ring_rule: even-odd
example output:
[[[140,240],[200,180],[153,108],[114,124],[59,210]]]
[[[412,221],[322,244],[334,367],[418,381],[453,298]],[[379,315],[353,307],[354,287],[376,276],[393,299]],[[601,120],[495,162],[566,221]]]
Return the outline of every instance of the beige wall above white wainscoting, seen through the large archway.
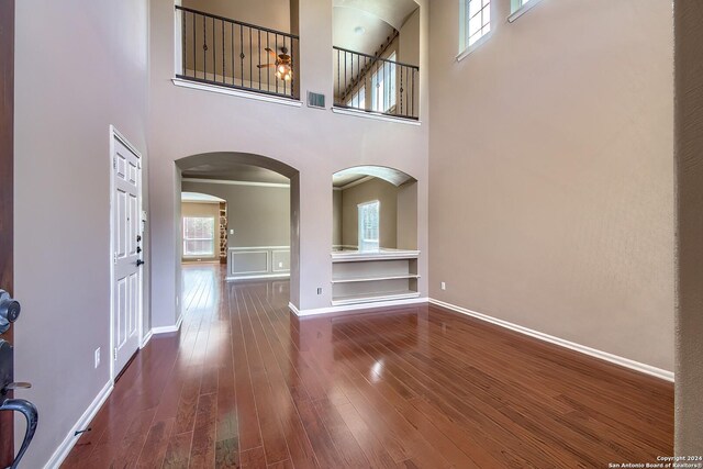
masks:
[[[189,181],[181,187],[227,201],[227,247],[290,246],[290,188]]]

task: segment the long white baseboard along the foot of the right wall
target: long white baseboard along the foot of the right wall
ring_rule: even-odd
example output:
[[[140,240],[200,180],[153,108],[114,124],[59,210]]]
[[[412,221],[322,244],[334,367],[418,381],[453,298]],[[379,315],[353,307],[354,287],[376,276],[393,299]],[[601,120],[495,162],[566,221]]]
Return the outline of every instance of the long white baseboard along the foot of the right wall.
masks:
[[[563,338],[555,337],[549,334],[545,334],[538,331],[533,331],[527,327],[523,327],[517,324],[510,323],[507,321],[499,320],[496,317],[488,316],[486,314],[477,313],[476,311],[467,310],[466,308],[457,306],[456,304],[445,303],[444,301],[429,299],[429,303],[438,306],[446,308],[447,310],[455,311],[457,313],[466,314],[471,317],[476,317],[481,321],[486,321],[491,324],[499,325],[501,327],[509,328],[511,331],[518,332],[521,334],[528,335],[531,337],[538,338],[550,344],[559,345],[571,350],[580,351],[581,354],[589,355],[591,357],[600,358],[601,360],[610,361],[621,367],[629,368],[635,371],[639,371],[645,375],[654,376],[659,379],[673,382],[673,372],[667,371],[661,368],[652,367],[651,365],[641,364],[639,361],[631,360],[629,358],[620,357],[617,355],[610,354],[607,351],[598,350],[595,348],[587,347],[585,345],[577,344]]]

